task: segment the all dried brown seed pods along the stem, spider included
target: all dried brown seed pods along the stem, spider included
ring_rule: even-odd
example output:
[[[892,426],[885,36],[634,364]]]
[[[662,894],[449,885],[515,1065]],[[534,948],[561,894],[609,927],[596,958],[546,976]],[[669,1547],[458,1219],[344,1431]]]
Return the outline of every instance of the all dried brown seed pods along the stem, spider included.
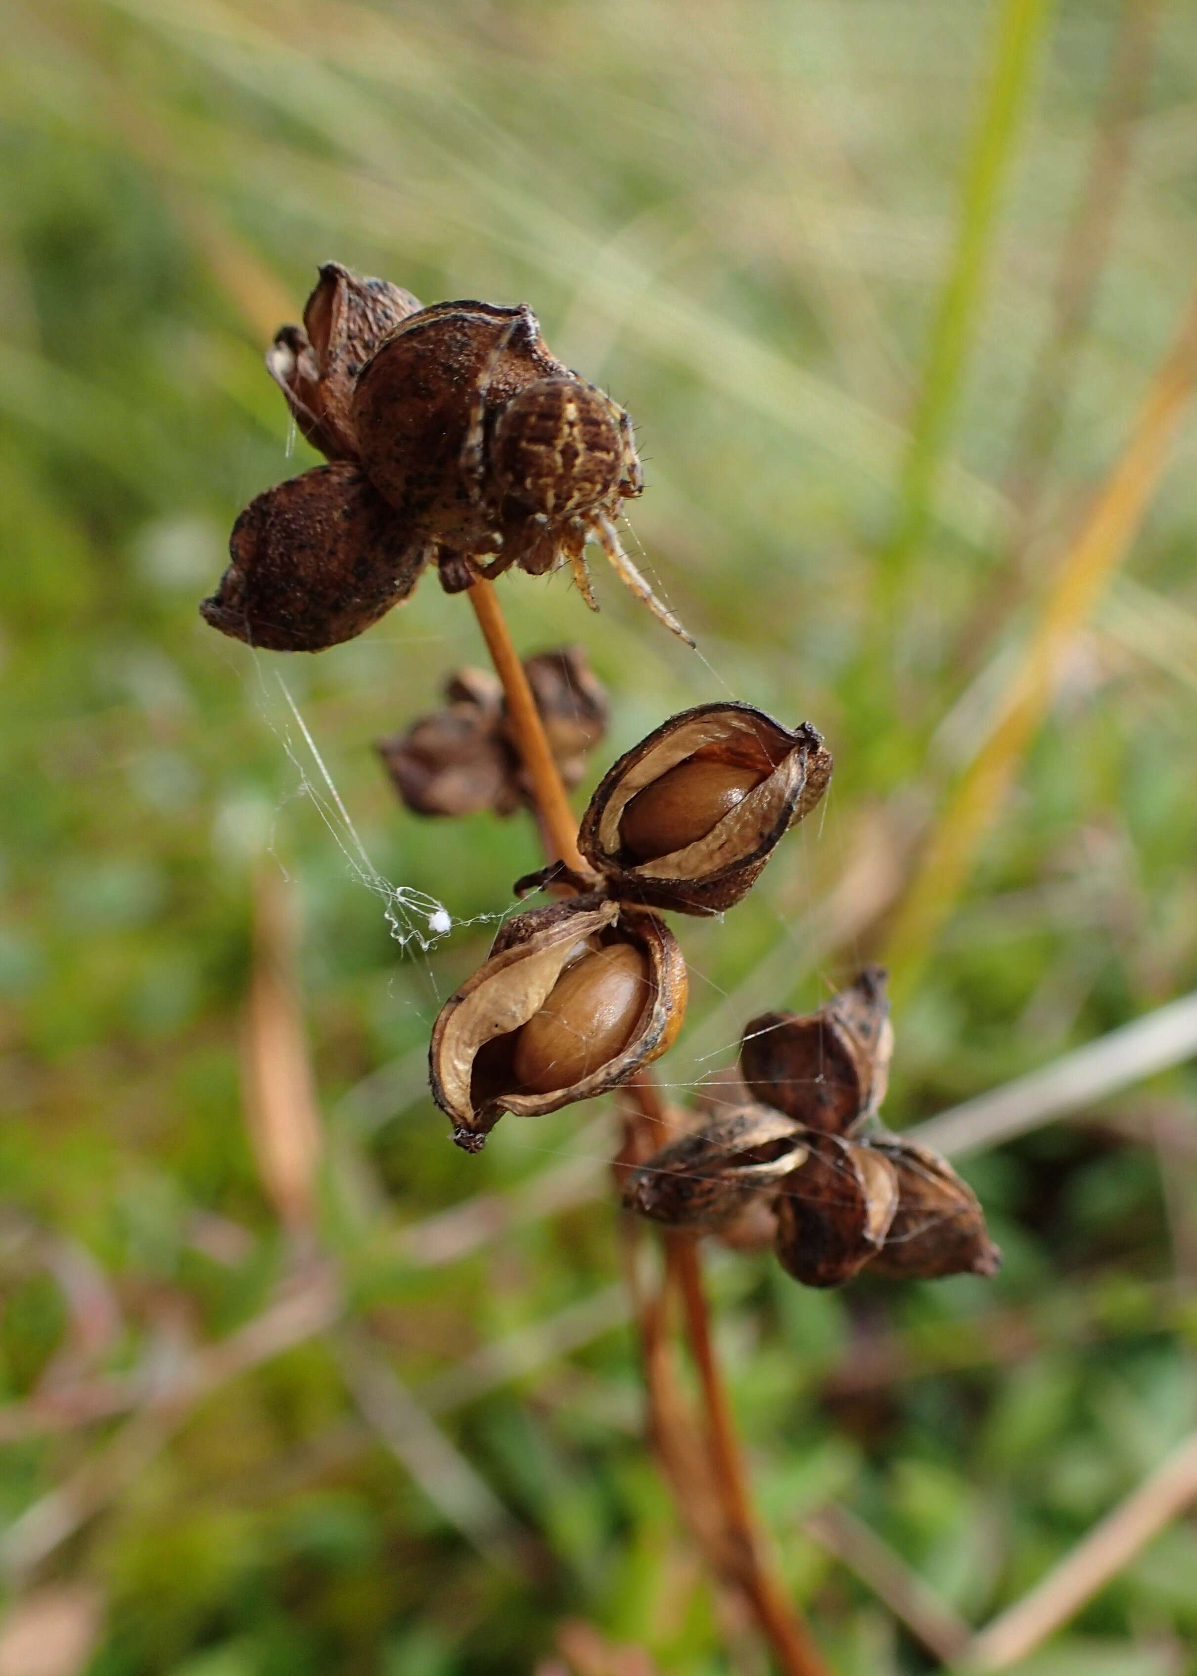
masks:
[[[526,305],[448,302],[327,263],[267,354],[295,424],[327,464],[267,489],[236,520],[205,600],[223,634],[317,652],[362,634],[436,565],[448,592],[518,566],[572,566],[593,605],[595,538],[674,634],[677,618],[624,553],[614,520],[642,476],[624,409],[553,357]],[[692,642],[689,642],[692,644]],[[602,739],[607,701],[577,649],[525,665],[567,784]],[[458,670],[441,711],[382,741],[417,815],[506,815],[531,803],[495,677]],[[582,818],[583,870],[528,875],[558,900],[505,922],[443,1006],[431,1088],[468,1151],[503,1113],[602,1094],[674,1041],[687,977],[662,912],[714,915],[751,888],[823,796],[832,758],[808,724],[701,704],[610,766]],[[739,1247],[773,1245],[808,1285],[875,1272],[991,1274],[976,1197],[951,1166],[880,1126],[892,1031],[867,969],[810,1016],[749,1022],[729,1108],[699,1116],[625,1180],[630,1208]]]

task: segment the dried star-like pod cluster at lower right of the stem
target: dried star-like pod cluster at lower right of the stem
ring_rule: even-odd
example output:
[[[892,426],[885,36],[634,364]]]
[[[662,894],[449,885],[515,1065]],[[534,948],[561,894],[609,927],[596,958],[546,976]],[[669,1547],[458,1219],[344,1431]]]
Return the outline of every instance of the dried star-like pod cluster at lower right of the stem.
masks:
[[[773,1244],[805,1285],[842,1285],[863,1267],[914,1279],[994,1274],[1001,1254],[972,1188],[930,1148],[875,1121],[890,1051],[878,967],[815,1014],[754,1019],[741,1051],[754,1103],[699,1116],[630,1173],[625,1203],[733,1245]]]

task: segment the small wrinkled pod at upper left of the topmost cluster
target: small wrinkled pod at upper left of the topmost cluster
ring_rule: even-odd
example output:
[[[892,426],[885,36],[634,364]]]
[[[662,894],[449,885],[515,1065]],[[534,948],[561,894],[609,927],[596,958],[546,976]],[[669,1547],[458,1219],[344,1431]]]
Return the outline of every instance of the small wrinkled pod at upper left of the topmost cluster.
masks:
[[[357,459],[354,380],[382,340],[417,310],[419,302],[402,287],[325,261],[303,325],[280,327],[267,369],[297,426],[327,459]]]

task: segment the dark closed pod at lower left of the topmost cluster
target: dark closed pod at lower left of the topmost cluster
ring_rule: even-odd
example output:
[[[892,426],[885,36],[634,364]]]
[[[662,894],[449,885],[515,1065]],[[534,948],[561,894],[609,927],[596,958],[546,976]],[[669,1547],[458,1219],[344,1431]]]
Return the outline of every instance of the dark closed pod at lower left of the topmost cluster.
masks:
[[[314,466],[250,501],[231,561],[200,607],[221,634],[273,652],[352,640],[406,600],[428,553],[357,466]]]

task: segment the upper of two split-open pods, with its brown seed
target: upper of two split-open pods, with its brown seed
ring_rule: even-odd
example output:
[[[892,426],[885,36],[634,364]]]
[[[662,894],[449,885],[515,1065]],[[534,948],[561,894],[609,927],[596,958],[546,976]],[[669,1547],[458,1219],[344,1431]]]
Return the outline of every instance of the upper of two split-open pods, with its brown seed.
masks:
[[[830,774],[808,722],[791,732],[751,704],[699,704],[607,771],[578,848],[620,900],[721,913],[818,803]]]

